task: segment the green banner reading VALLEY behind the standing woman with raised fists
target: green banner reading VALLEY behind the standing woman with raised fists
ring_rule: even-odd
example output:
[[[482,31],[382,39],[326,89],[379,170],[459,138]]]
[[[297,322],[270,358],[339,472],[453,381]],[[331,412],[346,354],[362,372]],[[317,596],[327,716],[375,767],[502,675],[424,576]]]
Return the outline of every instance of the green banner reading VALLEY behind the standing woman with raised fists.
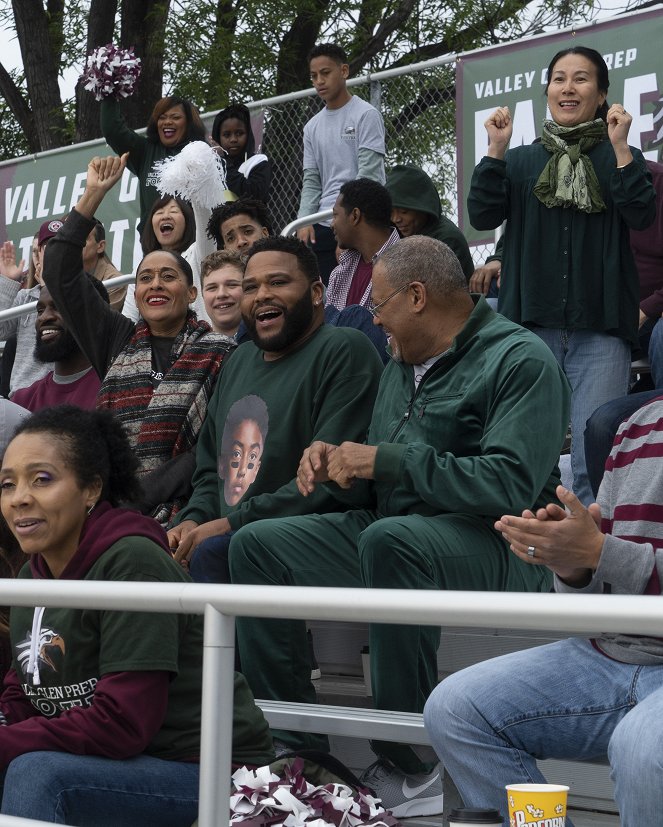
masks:
[[[544,94],[553,55],[572,46],[599,51],[610,70],[608,102],[623,103],[633,117],[629,143],[659,160],[663,143],[663,11],[649,11],[574,31],[482,49],[459,58],[456,73],[456,134],[460,226],[470,244],[486,244],[494,233],[479,232],[467,216],[472,171],[486,154],[484,122],[498,106],[513,118],[511,147],[532,143],[549,116]]]

